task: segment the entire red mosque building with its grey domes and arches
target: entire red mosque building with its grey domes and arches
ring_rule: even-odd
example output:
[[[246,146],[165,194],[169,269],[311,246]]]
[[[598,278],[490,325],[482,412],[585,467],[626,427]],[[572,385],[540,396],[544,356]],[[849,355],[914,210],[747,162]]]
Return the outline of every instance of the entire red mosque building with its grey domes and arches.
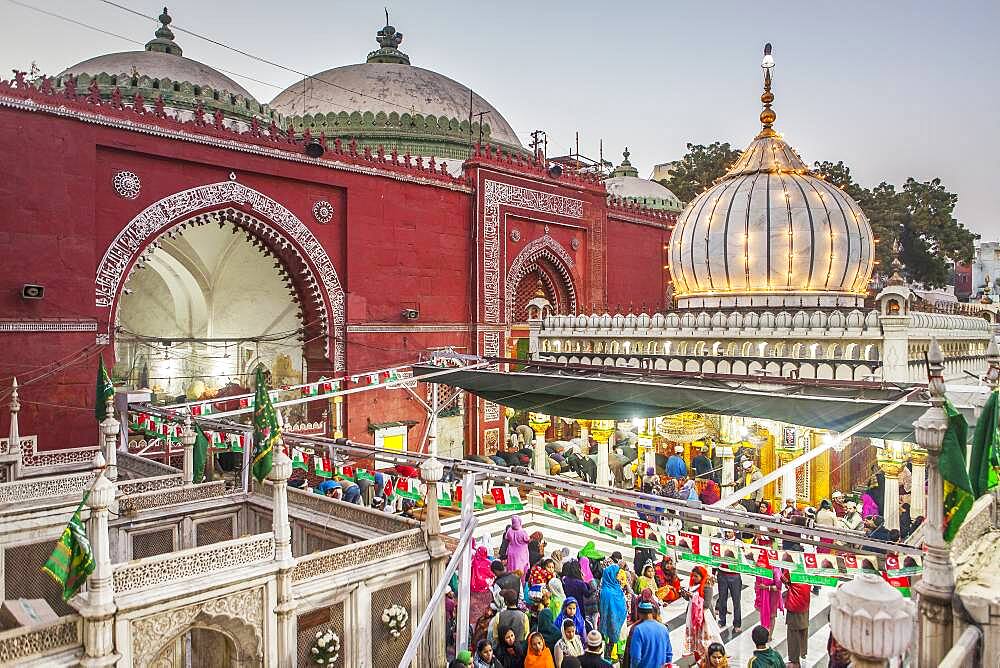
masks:
[[[549,163],[392,26],[264,104],[160,22],[144,51],[0,82],[0,375],[37,449],[91,444],[98,355],[121,387],[196,399],[259,363],[275,385],[347,384],[439,347],[525,356],[540,295],[666,306],[679,202],[627,155],[607,183]],[[403,390],[314,406],[295,417],[410,448],[426,416]],[[453,448],[497,447],[499,407],[455,412]]]

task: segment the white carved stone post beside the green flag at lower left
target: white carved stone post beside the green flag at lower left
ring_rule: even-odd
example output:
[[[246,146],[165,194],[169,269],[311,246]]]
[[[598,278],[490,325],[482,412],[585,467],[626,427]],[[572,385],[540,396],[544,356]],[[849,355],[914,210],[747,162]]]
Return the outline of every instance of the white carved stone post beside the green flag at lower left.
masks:
[[[94,555],[94,572],[87,579],[87,592],[80,597],[77,608],[83,618],[84,656],[80,665],[86,668],[113,666],[115,653],[114,616],[115,591],[111,570],[111,541],[108,535],[108,507],[115,500],[115,484],[107,476],[107,462],[100,452],[94,458],[97,480],[86,498],[90,509],[87,538]]]

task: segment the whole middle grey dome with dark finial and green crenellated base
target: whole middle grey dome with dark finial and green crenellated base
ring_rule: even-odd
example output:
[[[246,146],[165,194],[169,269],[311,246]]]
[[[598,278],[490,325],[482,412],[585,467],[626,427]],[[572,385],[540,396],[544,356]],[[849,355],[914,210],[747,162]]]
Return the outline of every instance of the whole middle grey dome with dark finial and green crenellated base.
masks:
[[[402,34],[385,26],[380,48],[364,63],[324,70],[278,94],[270,107],[284,114],[299,132],[355,140],[386,152],[465,159],[470,137],[524,152],[517,134],[497,109],[468,86],[443,74],[410,65],[397,48]],[[472,95],[474,120],[469,127]]]

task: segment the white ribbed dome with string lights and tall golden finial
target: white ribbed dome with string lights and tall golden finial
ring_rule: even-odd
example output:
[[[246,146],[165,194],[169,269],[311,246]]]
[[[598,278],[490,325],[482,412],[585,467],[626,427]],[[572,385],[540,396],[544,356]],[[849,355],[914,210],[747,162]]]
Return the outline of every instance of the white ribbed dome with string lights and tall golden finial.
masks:
[[[774,130],[770,44],[761,67],[760,133],[671,235],[677,305],[859,306],[875,262],[871,225]]]

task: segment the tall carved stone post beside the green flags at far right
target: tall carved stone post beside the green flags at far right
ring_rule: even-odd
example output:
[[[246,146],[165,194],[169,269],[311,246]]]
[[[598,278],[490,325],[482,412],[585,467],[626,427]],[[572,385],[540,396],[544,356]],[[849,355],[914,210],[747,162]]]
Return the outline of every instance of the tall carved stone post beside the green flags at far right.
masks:
[[[919,593],[917,665],[937,666],[952,645],[951,598],[955,591],[951,549],[944,540],[944,483],[938,471],[941,444],[948,430],[944,411],[944,355],[937,339],[927,352],[931,407],[913,424],[917,445],[927,452],[927,517],[924,520],[924,572]]]

